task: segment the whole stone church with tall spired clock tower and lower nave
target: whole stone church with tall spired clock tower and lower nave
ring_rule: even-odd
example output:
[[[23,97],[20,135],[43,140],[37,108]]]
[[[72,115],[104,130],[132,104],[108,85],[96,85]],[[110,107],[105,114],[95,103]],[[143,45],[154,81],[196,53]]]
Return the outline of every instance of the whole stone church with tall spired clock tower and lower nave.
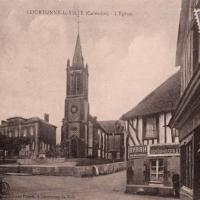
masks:
[[[78,33],[72,63],[67,60],[66,98],[61,146],[66,158],[124,159],[124,129],[119,121],[98,122],[90,114],[88,65]],[[114,144],[114,145],[113,145]]]

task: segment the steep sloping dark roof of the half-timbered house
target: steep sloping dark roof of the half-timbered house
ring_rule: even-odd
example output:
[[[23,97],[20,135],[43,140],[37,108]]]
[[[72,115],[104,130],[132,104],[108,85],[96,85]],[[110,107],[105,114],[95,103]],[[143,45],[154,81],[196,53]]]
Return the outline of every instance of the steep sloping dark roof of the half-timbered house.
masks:
[[[146,96],[138,105],[121,119],[131,119],[137,116],[151,115],[160,112],[173,111],[180,97],[180,70]]]

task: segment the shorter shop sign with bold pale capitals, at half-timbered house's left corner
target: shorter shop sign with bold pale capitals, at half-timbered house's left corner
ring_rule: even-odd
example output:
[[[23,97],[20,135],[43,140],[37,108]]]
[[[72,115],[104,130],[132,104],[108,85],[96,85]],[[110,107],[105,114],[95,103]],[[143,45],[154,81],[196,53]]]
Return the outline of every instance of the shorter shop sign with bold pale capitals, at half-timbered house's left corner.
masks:
[[[137,156],[145,156],[147,155],[147,146],[131,146],[128,147],[128,159],[132,159]]]

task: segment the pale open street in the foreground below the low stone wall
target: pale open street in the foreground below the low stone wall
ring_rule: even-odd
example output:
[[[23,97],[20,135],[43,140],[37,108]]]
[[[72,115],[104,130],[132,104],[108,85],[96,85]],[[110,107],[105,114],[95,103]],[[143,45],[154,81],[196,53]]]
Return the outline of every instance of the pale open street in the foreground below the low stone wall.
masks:
[[[151,200],[172,198],[126,194],[126,172],[77,178],[70,176],[7,176],[10,194],[3,199]]]

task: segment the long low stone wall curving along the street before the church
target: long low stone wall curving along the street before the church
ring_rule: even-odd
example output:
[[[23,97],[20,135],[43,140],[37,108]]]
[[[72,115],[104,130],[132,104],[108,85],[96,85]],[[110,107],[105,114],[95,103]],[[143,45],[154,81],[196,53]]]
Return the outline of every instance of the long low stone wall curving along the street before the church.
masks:
[[[31,165],[1,165],[0,174],[25,173],[30,175],[47,176],[76,176],[87,177],[111,174],[126,169],[126,162],[101,164],[94,166],[31,166]]]

